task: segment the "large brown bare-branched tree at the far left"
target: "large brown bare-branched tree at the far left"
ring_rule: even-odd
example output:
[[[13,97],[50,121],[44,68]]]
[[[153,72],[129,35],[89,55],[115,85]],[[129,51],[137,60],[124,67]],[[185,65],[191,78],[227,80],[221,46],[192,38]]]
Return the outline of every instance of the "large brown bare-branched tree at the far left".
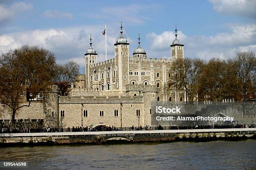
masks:
[[[26,92],[35,98],[48,91],[56,65],[54,54],[36,46],[22,46],[0,57],[0,99],[12,110],[12,120],[21,107],[29,107]]]

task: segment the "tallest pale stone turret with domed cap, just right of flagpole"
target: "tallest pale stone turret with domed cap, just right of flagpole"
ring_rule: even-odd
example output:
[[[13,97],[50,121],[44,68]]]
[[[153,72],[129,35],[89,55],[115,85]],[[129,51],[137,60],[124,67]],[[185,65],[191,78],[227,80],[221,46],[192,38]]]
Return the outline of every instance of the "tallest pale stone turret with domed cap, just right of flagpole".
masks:
[[[125,85],[129,84],[129,70],[130,70],[130,57],[129,57],[129,42],[123,37],[123,26],[121,22],[120,37],[115,42],[115,70],[117,89],[121,92],[125,90]]]

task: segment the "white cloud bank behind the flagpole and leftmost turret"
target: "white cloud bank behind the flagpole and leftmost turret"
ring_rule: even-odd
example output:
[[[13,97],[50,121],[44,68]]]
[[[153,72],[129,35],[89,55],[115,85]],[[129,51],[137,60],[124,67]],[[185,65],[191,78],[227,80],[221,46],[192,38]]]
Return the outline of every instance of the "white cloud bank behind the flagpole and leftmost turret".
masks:
[[[84,53],[90,46],[89,38],[92,34],[92,47],[97,51],[97,61],[105,60],[105,36],[102,35],[102,25],[59,28],[48,30],[32,30],[0,35],[0,54],[15,49],[21,45],[38,45],[44,47],[56,56],[59,63],[68,60],[77,61],[80,71],[84,68]],[[113,30],[109,26],[109,30]],[[114,43],[118,32],[108,32],[107,48],[108,59],[114,58]],[[130,38],[127,38],[130,40]]]

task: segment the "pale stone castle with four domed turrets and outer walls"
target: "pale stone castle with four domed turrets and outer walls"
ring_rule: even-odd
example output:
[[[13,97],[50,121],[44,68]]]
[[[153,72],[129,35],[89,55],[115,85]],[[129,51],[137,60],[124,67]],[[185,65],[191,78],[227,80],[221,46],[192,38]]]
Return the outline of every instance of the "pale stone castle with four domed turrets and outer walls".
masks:
[[[170,45],[170,59],[147,58],[146,51],[138,47],[130,57],[129,42],[123,37],[115,42],[115,57],[97,63],[97,52],[90,47],[85,52],[85,75],[78,75],[68,96],[59,96],[57,86],[44,95],[44,100],[31,102],[16,114],[17,122],[39,122],[45,126],[107,125],[131,127],[151,125],[153,102],[186,101],[184,92],[171,87],[172,60],[184,58],[184,44],[175,39]],[[0,123],[10,123],[10,110],[0,106]],[[254,116],[255,117],[255,116]]]

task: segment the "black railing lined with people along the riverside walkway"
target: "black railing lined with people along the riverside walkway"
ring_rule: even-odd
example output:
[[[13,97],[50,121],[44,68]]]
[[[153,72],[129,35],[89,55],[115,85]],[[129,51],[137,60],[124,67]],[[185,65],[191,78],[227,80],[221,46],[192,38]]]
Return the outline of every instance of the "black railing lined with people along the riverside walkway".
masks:
[[[196,126],[144,126],[144,127],[93,127],[77,128],[2,128],[0,133],[50,133],[50,132],[93,132],[93,131],[132,131],[132,130],[184,130],[184,129],[226,129],[226,128],[255,128],[255,125],[196,125]]]

